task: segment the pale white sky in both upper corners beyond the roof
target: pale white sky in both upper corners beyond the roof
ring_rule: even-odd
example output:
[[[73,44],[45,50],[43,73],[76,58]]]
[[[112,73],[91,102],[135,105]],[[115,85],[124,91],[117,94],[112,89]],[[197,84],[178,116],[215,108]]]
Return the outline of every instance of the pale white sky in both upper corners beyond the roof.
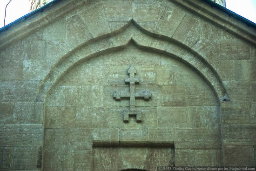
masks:
[[[0,28],[4,26],[5,7],[9,1],[0,0]],[[226,7],[256,23],[256,0],[226,0]],[[12,0],[7,6],[5,25],[26,15],[29,9],[29,0]]]

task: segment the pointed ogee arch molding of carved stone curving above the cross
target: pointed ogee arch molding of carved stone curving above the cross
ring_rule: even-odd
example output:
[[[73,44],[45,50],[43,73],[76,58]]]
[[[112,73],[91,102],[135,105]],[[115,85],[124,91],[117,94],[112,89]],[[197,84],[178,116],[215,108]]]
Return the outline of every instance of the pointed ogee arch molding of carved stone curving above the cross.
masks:
[[[61,76],[81,60],[88,60],[101,53],[125,48],[130,41],[133,41],[138,48],[163,53],[188,64],[212,87],[220,102],[229,101],[221,78],[206,59],[182,42],[149,32],[134,20],[130,20],[126,25],[112,33],[82,43],[59,59],[40,85],[35,101],[44,102]]]

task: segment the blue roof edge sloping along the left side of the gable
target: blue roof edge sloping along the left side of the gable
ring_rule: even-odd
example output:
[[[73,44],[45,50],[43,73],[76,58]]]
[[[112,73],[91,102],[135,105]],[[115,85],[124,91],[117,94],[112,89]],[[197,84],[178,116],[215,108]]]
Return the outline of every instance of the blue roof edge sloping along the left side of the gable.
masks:
[[[36,9],[34,11],[32,11],[31,13],[28,13],[28,14],[20,17],[19,19],[9,23],[8,25],[3,26],[2,28],[0,28],[0,33],[5,31],[5,30],[8,30],[10,27],[12,27],[13,25],[15,25],[15,24],[17,24],[17,23],[19,23],[19,22],[21,22],[23,20],[27,20],[29,17],[35,15],[36,13],[43,12],[45,8],[50,7],[50,6],[52,6],[53,4],[56,4],[59,1],[61,1],[61,0],[53,0],[53,1],[49,2],[49,3],[47,3],[46,5],[38,8],[38,9]]]

